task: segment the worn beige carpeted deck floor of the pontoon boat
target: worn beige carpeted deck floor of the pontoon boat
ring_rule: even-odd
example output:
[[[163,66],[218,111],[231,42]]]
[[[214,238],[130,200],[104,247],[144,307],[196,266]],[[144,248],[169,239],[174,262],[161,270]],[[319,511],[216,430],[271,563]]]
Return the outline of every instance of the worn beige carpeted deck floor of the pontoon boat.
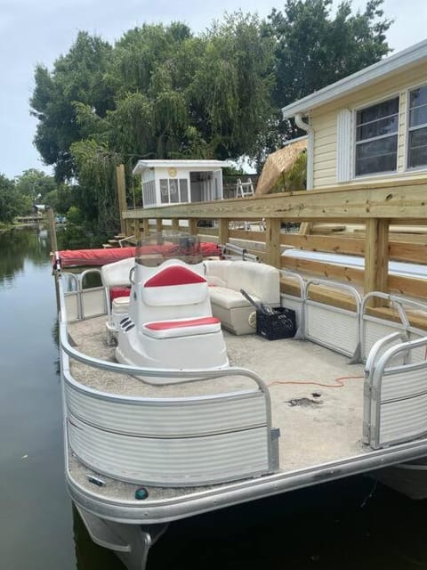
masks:
[[[71,343],[89,356],[115,362],[114,346],[106,344],[105,316],[68,325]],[[224,331],[231,365],[257,372],[270,388],[272,427],[280,429],[279,468],[282,473],[343,460],[371,451],[362,444],[363,365],[306,340],[266,340],[257,335],[234,336]],[[114,372],[71,362],[73,378],[96,390],[118,395],[170,397],[254,389],[247,378],[225,377],[153,386]],[[340,379],[343,379],[340,381]],[[90,469],[71,457],[69,467],[82,485]],[[106,477],[101,477],[106,479]],[[92,485],[93,486],[93,485]],[[109,486],[109,496],[112,488]],[[100,494],[104,488],[100,487]],[[133,498],[135,485],[117,482],[122,498]],[[163,498],[195,488],[157,489]],[[153,493],[150,493],[153,497]]]

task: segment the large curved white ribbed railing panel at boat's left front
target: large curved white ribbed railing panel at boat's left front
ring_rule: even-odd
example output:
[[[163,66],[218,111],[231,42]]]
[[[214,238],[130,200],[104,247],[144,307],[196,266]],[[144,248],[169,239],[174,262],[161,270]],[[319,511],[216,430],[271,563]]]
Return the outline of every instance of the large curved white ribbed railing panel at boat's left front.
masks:
[[[60,346],[68,441],[89,468],[104,476],[146,485],[209,485],[278,470],[278,430],[271,427],[269,388],[254,371],[149,369],[81,353],[68,339],[65,297],[60,291]],[[210,382],[252,380],[254,388],[206,395],[156,397],[117,394],[79,381],[73,361],[90,370],[134,379]],[[165,394],[165,392],[163,392]]]

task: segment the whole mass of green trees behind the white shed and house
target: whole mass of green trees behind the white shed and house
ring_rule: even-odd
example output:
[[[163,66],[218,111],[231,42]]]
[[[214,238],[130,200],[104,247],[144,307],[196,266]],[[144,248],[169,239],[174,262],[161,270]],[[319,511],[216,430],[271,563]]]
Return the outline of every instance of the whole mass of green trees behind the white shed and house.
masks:
[[[118,230],[120,162],[129,181],[142,158],[246,155],[259,169],[296,132],[281,106],[389,53],[382,4],[353,14],[344,1],[332,16],[332,0],[286,0],[267,20],[226,14],[198,36],[181,22],[143,24],[115,45],[79,32],[52,71],[36,67],[30,101],[44,162],[78,183],[43,181],[39,193],[58,211],[76,206],[102,236]]]

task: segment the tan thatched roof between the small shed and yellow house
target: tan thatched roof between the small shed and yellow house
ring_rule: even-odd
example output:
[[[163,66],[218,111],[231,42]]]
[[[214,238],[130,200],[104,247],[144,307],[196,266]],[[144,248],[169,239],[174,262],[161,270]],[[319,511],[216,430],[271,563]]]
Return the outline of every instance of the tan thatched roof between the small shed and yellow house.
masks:
[[[273,190],[280,176],[286,175],[300,154],[307,149],[307,137],[290,142],[276,152],[272,152],[265,161],[262,173],[256,184],[255,196],[268,194]]]

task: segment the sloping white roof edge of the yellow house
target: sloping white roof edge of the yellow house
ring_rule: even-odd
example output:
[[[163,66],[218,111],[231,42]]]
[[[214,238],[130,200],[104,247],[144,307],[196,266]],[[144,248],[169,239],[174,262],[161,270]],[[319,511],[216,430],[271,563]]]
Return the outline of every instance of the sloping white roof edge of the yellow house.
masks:
[[[403,69],[409,69],[419,65],[423,61],[427,62],[427,40],[423,40],[419,44],[411,45],[406,50],[377,61],[374,65],[370,65],[365,69],[360,69],[356,73],[349,75],[336,81],[331,85],[326,85],[323,89],[307,95],[302,99],[287,105],[282,109],[283,118],[294,117],[296,113],[307,114],[311,109],[333,102],[343,95],[357,91],[368,85],[375,85],[383,81],[385,76],[390,77],[401,72]]]

